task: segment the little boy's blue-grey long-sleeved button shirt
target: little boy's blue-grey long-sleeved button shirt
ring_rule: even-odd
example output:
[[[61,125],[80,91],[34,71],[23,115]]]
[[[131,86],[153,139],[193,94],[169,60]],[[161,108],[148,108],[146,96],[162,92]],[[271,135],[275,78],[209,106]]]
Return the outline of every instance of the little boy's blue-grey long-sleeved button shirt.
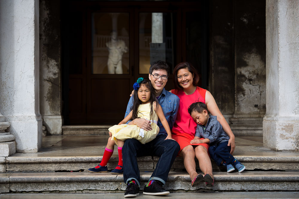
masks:
[[[217,121],[217,116],[210,115],[208,119],[207,126],[197,124],[195,136],[200,138],[208,138],[210,143],[221,143],[229,140],[228,135],[223,130],[219,121]]]

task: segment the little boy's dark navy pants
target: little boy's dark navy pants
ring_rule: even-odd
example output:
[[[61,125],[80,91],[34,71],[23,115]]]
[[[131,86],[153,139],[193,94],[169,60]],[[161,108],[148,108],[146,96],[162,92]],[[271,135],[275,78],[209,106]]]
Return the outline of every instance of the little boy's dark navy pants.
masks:
[[[227,142],[215,143],[213,146],[209,147],[209,154],[211,158],[216,162],[218,166],[221,166],[221,162],[224,160],[227,164],[232,163],[234,161],[234,156],[232,156],[229,152],[231,152],[231,146],[227,146]]]

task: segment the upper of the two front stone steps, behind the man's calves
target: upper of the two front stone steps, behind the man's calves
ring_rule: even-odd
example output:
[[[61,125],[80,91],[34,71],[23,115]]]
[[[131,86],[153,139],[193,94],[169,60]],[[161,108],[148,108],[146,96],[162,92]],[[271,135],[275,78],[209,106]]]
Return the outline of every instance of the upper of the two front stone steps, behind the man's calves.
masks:
[[[103,156],[49,156],[49,157],[28,157],[10,156],[3,160],[3,167],[6,172],[57,172],[87,170],[99,164]],[[299,170],[299,156],[257,156],[257,155],[236,155],[237,160],[246,166],[247,170]],[[158,162],[158,157],[145,156],[137,158],[141,171],[153,171]],[[118,164],[118,156],[112,156],[107,164],[108,169],[113,169]],[[199,170],[198,161],[196,165]],[[224,167],[217,166],[212,160],[214,171],[225,171]],[[177,157],[171,171],[184,171],[182,157]]]

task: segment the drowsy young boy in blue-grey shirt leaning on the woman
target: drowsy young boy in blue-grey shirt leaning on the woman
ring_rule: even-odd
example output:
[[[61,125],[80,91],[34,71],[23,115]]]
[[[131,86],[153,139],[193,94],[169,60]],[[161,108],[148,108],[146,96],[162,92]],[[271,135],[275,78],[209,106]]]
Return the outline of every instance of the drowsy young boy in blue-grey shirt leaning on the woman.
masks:
[[[188,112],[197,123],[195,137],[190,143],[210,143],[209,154],[218,166],[226,166],[228,173],[235,170],[234,166],[239,172],[244,171],[245,166],[229,153],[231,151],[231,146],[227,146],[229,137],[217,121],[217,116],[210,116],[207,106],[202,102],[191,104]]]

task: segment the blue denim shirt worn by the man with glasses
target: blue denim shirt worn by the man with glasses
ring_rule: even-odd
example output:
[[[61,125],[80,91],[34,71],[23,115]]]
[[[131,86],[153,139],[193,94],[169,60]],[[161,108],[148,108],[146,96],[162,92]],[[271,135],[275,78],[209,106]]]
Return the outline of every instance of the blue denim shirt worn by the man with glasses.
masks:
[[[168,92],[163,88],[160,97],[158,98],[158,102],[162,107],[164,116],[169,124],[170,130],[173,127],[174,122],[176,121],[176,116],[178,114],[178,109],[180,105],[180,98],[175,94]],[[125,117],[131,112],[131,107],[133,105],[133,96],[130,98],[129,103],[127,105]],[[131,120],[130,120],[131,121]],[[128,121],[127,124],[130,122]],[[160,128],[159,134],[167,135],[165,128],[163,127],[160,119],[158,120],[158,127]]]

